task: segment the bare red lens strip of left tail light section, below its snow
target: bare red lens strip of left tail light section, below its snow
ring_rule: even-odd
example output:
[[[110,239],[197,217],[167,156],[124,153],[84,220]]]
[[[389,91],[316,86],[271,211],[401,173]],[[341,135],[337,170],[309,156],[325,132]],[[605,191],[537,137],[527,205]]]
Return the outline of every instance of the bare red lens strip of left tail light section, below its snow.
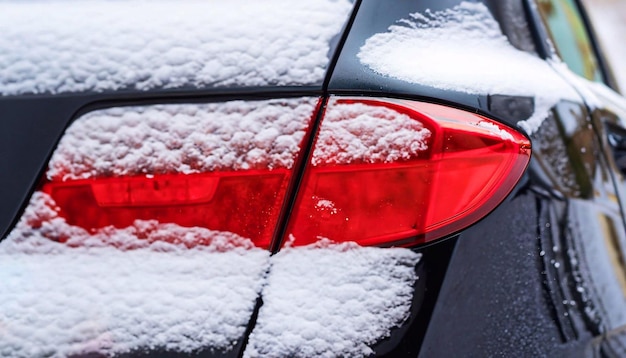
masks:
[[[68,224],[89,230],[157,220],[232,232],[268,247],[290,177],[286,169],[113,177],[47,182],[42,191]]]

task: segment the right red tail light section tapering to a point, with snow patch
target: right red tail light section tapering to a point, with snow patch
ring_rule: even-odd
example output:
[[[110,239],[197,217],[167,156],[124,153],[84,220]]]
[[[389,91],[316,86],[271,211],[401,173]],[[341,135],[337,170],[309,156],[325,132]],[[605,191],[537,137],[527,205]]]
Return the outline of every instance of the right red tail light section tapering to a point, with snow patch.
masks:
[[[391,99],[333,99],[287,228],[320,238],[412,245],[493,210],[530,159],[530,142],[486,117]]]

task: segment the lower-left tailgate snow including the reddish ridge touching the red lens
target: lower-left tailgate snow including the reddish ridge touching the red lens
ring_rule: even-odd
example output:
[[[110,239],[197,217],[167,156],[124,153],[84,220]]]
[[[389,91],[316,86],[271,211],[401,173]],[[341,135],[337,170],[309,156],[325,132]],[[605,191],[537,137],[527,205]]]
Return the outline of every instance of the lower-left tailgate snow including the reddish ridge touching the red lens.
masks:
[[[1,356],[227,350],[243,335],[267,251],[232,233],[155,222],[89,235],[49,205],[36,193],[0,244]],[[61,244],[51,232],[71,237]],[[197,238],[205,245],[188,245]]]

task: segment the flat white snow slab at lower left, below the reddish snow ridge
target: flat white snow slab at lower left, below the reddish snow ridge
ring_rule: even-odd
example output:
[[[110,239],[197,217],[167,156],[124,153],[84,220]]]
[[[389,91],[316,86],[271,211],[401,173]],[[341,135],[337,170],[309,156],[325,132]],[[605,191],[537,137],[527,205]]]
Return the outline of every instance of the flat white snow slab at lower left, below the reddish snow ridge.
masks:
[[[0,355],[228,349],[245,330],[267,260],[261,250],[55,250],[0,254]]]

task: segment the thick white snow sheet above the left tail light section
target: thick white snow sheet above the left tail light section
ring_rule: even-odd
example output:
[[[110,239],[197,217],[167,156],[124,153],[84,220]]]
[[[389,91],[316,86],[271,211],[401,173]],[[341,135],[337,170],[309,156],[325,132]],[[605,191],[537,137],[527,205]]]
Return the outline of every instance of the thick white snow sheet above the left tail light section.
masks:
[[[347,0],[0,2],[0,94],[321,83]]]

